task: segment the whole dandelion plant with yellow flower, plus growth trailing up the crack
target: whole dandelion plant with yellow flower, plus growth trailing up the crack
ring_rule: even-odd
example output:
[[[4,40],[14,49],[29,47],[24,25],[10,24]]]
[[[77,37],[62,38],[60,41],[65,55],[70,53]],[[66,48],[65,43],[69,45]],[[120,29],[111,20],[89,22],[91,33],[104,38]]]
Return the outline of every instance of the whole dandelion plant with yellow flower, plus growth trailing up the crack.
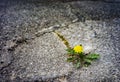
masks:
[[[58,37],[64,42],[67,49],[67,62],[73,63],[76,68],[83,66],[89,66],[92,61],[99,59],[100,55],[95,53],[85,53],[82,45],[76,45],[73,48],[70,47],[68,41],[58,32],[55,32]]]

